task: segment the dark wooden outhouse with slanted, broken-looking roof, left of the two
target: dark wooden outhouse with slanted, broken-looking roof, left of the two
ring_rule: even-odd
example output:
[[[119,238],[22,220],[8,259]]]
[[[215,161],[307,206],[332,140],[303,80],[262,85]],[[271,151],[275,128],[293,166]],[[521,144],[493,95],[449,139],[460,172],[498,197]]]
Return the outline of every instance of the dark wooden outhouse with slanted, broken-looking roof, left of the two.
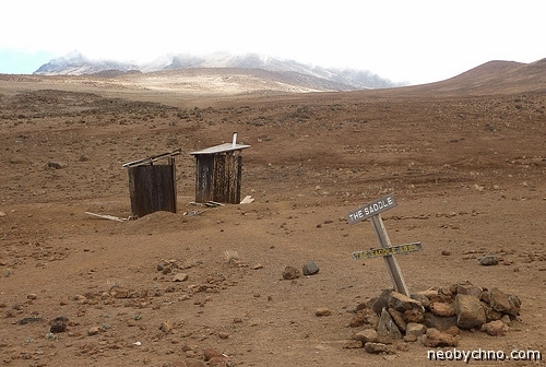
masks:
[[[133,217],[158,211],[176,213],[175,155],[180,150],[123,164],[129,173],[129,194]],[[167,164],[154,164],[167,159]]]

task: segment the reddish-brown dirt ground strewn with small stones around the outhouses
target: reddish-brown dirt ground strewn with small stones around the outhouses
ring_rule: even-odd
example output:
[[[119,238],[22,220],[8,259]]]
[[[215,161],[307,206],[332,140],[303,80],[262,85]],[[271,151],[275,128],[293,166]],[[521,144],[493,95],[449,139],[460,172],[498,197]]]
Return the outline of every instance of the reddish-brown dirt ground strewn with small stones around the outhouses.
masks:
[[[346,215],[388,193],[393,245],[423,244],[397,256],[411,292],[468,281],[522,300],[505,336],[463,330],[458,348],[544,354],[545,106],[527,92],[218,96],[4,76],[1,364],[205,366],[214,350],[232,366],[460,365],[428,362],[418,342],[348,347],[357,305],[392,285],[382,259],[352,259],[378,244]],[[241,197],[254,201],[191,204],[189,153],[235,131],[251,145]],[[85,214],[130,216],[122,164],[176,149],[178,213]],[[485,254],[501,261],[480,265]],[[318,274],[283,280],[307,261]],[[67,330],[51,333],[59,317]]]

